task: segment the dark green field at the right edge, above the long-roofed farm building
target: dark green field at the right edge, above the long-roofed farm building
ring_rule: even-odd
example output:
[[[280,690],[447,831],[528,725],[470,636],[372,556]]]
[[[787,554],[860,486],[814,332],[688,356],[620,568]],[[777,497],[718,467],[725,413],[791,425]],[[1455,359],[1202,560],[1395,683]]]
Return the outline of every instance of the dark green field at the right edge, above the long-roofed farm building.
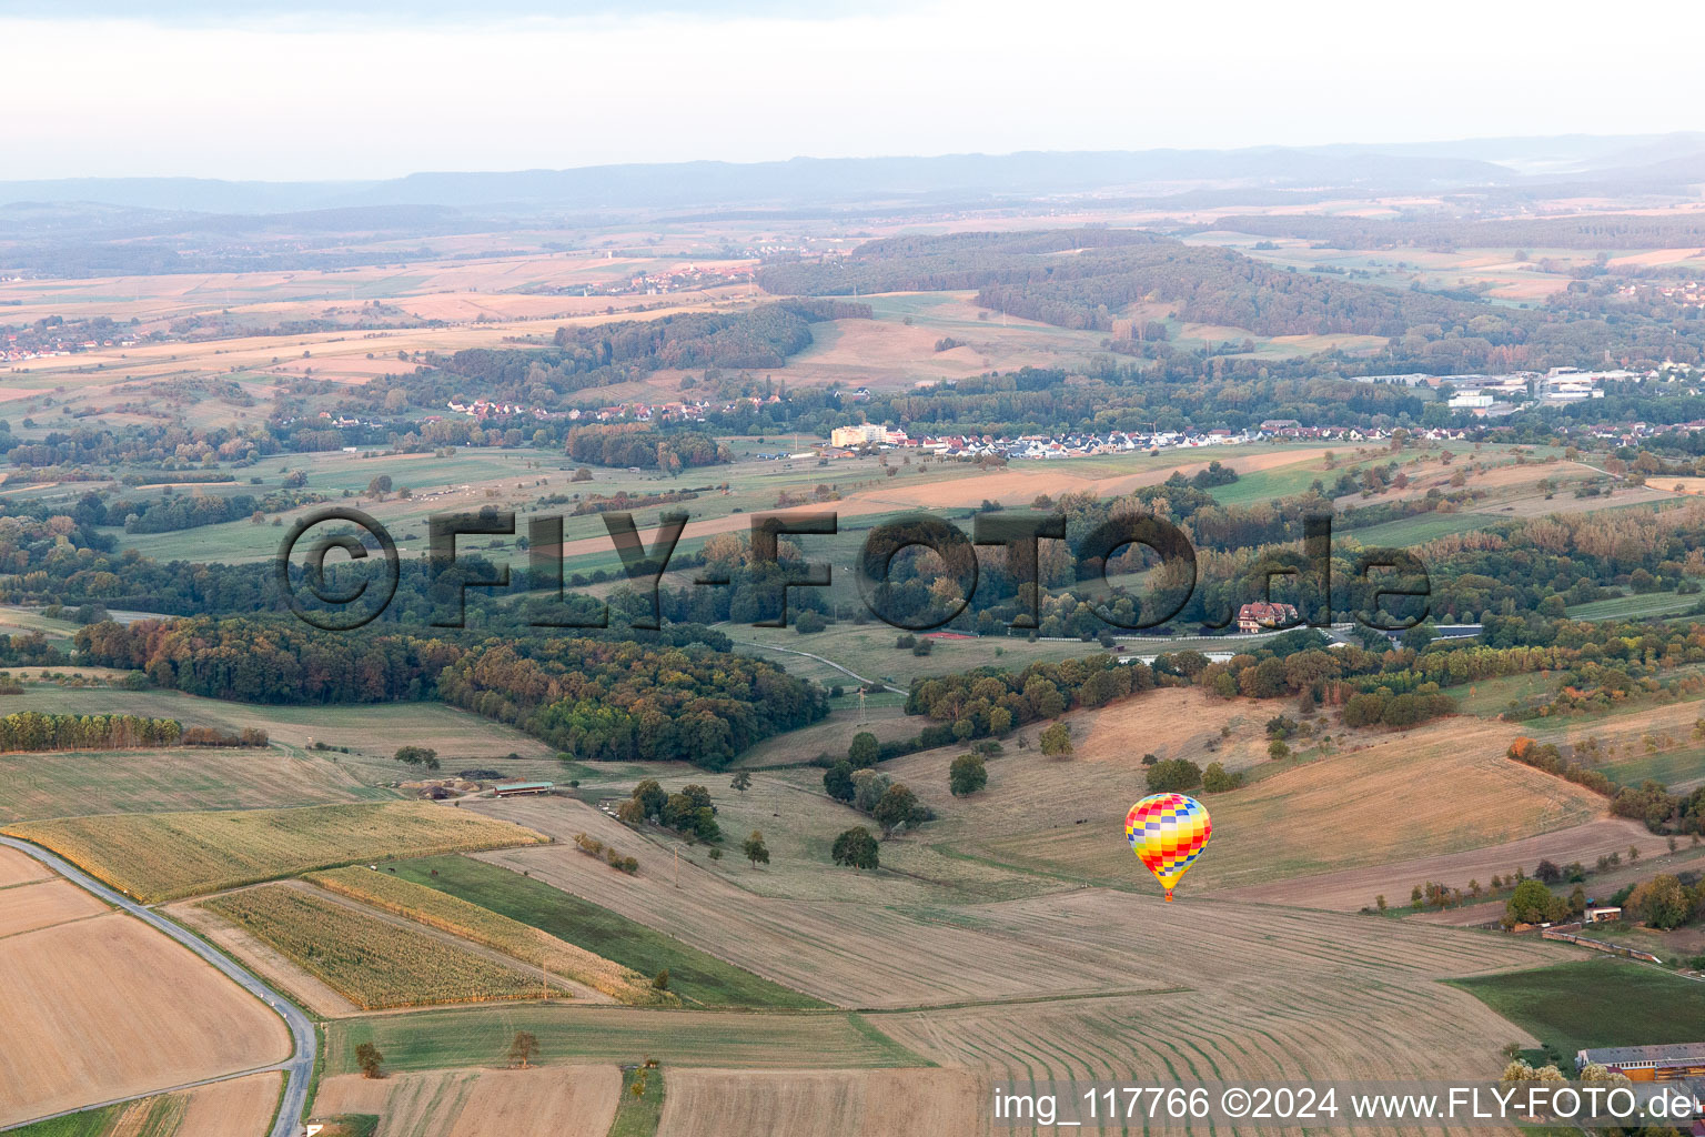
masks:
[[[1705,984],[1644,963],[1582,960],[1454,985],[1563,1055],[1705,1038]]]

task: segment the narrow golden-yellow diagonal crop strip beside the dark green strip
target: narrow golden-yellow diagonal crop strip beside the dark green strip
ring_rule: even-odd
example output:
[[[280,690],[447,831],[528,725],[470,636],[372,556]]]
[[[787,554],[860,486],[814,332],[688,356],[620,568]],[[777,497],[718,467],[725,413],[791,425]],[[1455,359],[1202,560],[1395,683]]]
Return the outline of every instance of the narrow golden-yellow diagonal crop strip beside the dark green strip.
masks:
[[[496,948],[523,963],[549,968],[554,975],[566,975],[587,984],[619,1002],[633,1006],[675,1002],[672,996],[655,990],[651,980],[633,968],[612,963],[556,936],[547,936],[537,927],[529,927],[435,888],[365,868],[314,873],[307,880],[375,909],[396,912],[454,936]]]

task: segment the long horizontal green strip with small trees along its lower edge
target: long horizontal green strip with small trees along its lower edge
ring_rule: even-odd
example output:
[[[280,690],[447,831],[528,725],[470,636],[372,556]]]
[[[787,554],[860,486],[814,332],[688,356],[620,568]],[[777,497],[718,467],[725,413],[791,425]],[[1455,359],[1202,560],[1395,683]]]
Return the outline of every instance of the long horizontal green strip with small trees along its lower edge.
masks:
[[[438,1071],[501,1062],[515,1031],[539,1038],[539,1060],[633,1062],[767,1069],[878,1069],[929,1065],[861,1016],[636,1011],[571,1006],[467,1007],[336,1019],[326,1026],[326,1074],[355,1072],[370,1042],[389,1071]]]

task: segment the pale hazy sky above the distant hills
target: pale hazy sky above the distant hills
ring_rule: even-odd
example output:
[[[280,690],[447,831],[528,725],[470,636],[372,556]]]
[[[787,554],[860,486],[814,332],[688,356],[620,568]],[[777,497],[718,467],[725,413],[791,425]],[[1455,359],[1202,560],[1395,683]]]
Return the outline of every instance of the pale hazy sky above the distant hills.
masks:
[[[1705,124],[1685,97],[1705,31],[1696,0],[280,7],[0,0],[0,181]],[[459,14],[471,9],[477,19]]]

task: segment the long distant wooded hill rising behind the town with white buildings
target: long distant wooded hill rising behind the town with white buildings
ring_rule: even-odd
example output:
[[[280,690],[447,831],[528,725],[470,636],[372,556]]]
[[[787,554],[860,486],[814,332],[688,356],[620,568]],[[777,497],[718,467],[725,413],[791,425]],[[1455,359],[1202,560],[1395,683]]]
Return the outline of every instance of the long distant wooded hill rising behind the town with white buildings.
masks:
[[[1231,249],[1185,245],[1141,230],[950,234],[873,240],[841,261],[759,271],[772,293],[977,290],[985,309],[1061,327],[1113,331],[1139,300],[1180,319],[1262,336],[1403,336],[1415,326],[1468,324],[1494,309],[1427,291],[1396,291],[1294,273]],[[1521,312],[1499,310],[1519,322]]]

